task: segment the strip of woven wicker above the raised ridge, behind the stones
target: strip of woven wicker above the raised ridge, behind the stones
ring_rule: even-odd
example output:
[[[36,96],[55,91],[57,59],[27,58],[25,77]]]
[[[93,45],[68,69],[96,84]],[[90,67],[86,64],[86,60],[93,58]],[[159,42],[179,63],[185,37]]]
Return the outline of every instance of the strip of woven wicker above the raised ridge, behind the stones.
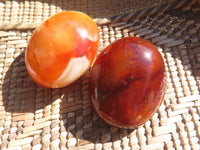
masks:
[[[76,10],[92,18],[112,17],[175,0],[0,0],[0,22],[40,22],[63,11]]]

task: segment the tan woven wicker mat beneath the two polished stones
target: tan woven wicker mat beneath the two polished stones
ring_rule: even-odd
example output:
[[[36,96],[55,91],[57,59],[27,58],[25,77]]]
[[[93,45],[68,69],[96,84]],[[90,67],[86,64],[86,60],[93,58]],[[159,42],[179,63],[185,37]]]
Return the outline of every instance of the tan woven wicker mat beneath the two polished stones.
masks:
[[[79,10],[98,24],[99,52],[127,36],[162,53],[168,72],[163,104],[135,129],[109,126],[93,111],[89,70],[61,89],[36,85],[24,51],[38,24]],[[0,0],[0,149],[200,149],[200,1]]]

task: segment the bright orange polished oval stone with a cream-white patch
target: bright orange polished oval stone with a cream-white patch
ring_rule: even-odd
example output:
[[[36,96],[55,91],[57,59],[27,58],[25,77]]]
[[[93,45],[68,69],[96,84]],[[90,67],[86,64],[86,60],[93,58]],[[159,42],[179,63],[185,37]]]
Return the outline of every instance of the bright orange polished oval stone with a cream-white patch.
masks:
[[[65,11],[51,16],[31,36],[25,63],[41,86],[60,88],[77,80],[92,64],[99,30],[88,15]]]

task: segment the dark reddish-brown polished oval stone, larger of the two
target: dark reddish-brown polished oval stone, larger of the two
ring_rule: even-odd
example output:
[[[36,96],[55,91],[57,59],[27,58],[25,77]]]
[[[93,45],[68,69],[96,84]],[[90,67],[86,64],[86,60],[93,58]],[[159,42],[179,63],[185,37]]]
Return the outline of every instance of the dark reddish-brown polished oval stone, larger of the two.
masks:
[[[160,52],[144,39],[126,37],[99,54],[91,69],[89,92],[94,109],[104,121],[134,128],[159,108],[166,80]]]

